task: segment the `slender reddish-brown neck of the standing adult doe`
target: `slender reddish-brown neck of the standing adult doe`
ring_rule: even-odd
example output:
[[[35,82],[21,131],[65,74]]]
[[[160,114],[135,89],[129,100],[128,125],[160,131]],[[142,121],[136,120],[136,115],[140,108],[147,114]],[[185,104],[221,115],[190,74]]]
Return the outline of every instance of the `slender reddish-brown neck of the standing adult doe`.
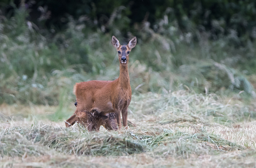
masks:
[[[121,86],[121,88],[124,88],[124,89],[131,87],[127,64],[120,65],[119,85]]]

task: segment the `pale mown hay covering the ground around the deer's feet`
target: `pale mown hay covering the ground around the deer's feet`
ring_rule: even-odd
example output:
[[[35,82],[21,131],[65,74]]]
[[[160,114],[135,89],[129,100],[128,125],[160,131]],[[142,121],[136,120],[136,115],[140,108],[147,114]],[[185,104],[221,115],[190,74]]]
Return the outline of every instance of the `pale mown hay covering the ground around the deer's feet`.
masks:
[[[134,94],[129,129],[99,132],[65,128],[73,102],[59,121],[57,106],[2,104],[0,166],[256,167],[256,104],[242,94]]]

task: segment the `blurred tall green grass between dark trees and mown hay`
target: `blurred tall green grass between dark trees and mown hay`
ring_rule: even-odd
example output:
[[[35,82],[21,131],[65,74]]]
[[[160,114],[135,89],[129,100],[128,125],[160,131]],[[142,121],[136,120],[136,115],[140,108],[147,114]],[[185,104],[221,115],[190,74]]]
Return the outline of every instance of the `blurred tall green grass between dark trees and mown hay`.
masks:
[[[111,24],[105,25],[110,33],[93,30],[86,16],[78,20],[69,16],[67,28],[54,36],[27,21],[26,10],[15,10],[10,20],[1,22],[0,103],[58,105],[61,90],[67,89],[66,98],[75,99],[71,93],[75,82],[118,78],[117,55],[110,39],[114,34],[122,44],[128,41],[122,38],[122,29],[130,22],[123,10],[121,6],[111,14]],[[255,42],[248,39],[249,45],[236,48],[230,47],[230,36],[211,41],[209,32],[183,33],[177,21],[166,21],[173,18],[169,14],[157,20],[157,29],[147,22],[134,26],[139,37],[129,63],[133,93],[179,89],[226,93],[230,89],[255,97],[247,80],[255,71]]]

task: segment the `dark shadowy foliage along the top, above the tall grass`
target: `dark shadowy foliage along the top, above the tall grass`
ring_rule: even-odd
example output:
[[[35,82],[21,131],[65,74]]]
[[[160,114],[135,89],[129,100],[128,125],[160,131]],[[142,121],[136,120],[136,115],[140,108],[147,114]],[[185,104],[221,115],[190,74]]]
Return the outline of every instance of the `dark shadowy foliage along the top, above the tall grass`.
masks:
[[[20,6],[19,1],[2,4],[3,13],[7,15],[12,8]],[[191,32],[196,38],[197,31],[211,32],[211,39],[233,36],[230,41],[241,45],[248,38],[255,38],[256,3],[248,1],[24,1],[21,5],[30,10],[28,19],[40,28],[63,30],[68,24],[69,16],[80,19],[86,26],[102,32],[128,32],[139,35],[134,27],[145,22],[154,31],[161,31],[166,24],[178,24],[183,32]],[[114,11],[114,12],[113,12]],[[13,14],[13,12],[12,12]],[[82,16],[82,18],[81,18]],[[159,25],[158,22],[162,18]],[[117,28],[116,28],[117,27]],[[119,32],[118,32],[119,31]]]

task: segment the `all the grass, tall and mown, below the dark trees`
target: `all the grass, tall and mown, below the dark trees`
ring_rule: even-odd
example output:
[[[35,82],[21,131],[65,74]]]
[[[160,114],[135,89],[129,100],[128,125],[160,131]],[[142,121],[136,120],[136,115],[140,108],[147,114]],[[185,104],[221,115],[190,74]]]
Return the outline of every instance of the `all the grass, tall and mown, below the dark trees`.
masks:
[[[0,24],[0,167],[256,167],[255,40],[182,32],[163,27],[166,17],[157,32],[135,27],[130,127],[88,132],[65,127],[73,86],[117,79],[111,36],[133,35],[93,30],[83,17],[37,30],[27,14]]]

